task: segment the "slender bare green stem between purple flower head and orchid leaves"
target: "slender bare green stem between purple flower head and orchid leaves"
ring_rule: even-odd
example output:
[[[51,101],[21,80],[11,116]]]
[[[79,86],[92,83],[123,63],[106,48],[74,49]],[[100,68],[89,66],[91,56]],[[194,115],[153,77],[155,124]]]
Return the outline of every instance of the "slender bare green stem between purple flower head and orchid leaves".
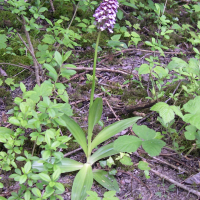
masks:
[[[100,39],[101,31],[99,31],[96,41],[95,53],[94,53],[94,64],[93,64],[93,79],[92,79],[92,91],[90,96],[90,107],[93,104],[94,100],[94,90],[95,90],[95,74],[96,74],[96,64],[97,64],[97,51],[99,46],[99,39]]]

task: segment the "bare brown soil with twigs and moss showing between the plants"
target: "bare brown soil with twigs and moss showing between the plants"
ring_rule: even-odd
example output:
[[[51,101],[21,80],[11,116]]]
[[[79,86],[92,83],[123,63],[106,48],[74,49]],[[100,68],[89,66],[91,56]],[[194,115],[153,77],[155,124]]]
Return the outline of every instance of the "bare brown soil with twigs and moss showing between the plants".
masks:
[[[119,119],[127,118],[129,116],[134,116],[134,114],[146,116],[143,121],[139,124],[145,124],[150,128],[153,128],[156,131],[160,130],[160,126],[158,126],[156,122],[156,113],[152,113],[150,111],[150,106],[145,107],[144,109],[136,110],[137,113],[126,113],[125,116],[118,116],[118,118],[114,117],[113,111],[117,112],[118,110],[122,110],[125,106],[135,105],[139,107],[140,104],[146,103],[148,104],[150,101],[146,100],[145,97],[148,95],[147,90],[139,87],[139,84],[127,83],[123,84],[127,79],[130,81],[139,80],[137,67],[141,64],[145,63],[144,58],[151,55],[152,53],[133,50],[123,55],[113,56],[112,60],[105,60],[103,64],[98,65],[102,70],[97,70],[97,89],[95,92],[96,97],[103,97],[104,99],[104,110],[103,116],[101,120],[104,125],[107,126],[110,123],[113,123]],[[160,60],[163,64],[169,62],[172,54],[168,54],[165,58],[160,57]],[[77,67],[83,66],[87,67],[92,62],[79,62],[76,64]],[[103,70],[105,69],[105,71]],[[106,69],[111,69],[113,72],[106,71]],[[114,71],[119,70],[123,73],[115,73]],[[71,78],[68,87],[68,94],[70,96],[70,104],[74,110],[74,119],[81,125],[87,129],[87,113],[89,106],[89,97],[90,97],[90,87],[91,83],[87,83],[87,74],[91,74],[91,72],[79,72]],[[125,73],[127,75],[125,75]],[[130,75],[133,77],[130,78]],[[67,80],[62,80],[63,82],[68,82]],[[147,88],[149,78],[147,75],[142,77],[142,83]],[[29,77],[24,80],[23,83],[27,86],[27,89],[30,90],[35,85],[35,80],[33,77]],[[101,86],[108,90],[111,93],[111,96],[102,92]],[[138,93],[139,91],[139,93]],[[142,93],[142,94],[141,94]],[[127,95],[128,94],[128,95]],[[16,89],[14,92],[11,92],[12,99],[14,97],[20,95],[20,89]],[[167,97],[166,97],[167,98]],[[0,101],[3,102],[0,105],[0,121],[2,126],[7,126],[7,116],[6,116],[6,105],[5,99],[0,98]],[[107,103],[108,102],[108,103]],[[128,104],[127,104],[128,103]],[[109,107],[110,106],[110,107]],[[112,113],[113,117],[109,117],[108,115]],[[149,115],[149,113],[151,115]],[[149,116],[149,117],[148,117]],[[181,123],[181,122],[180,122]],[[178,126],[177,126],[178,127]],[[97,127],[96,131],[99,131],[101,127]],[[119,135],[124,134],[132,134],[130,129],[127,129],[117,136],[114,136],[112,139],[117,138]],[[167,145],[172,147],[171,140],[166,138]],[[72,151],[74,149],[70,149]],[[196,152],[198,155],[198,152]],[[84,154],[83,152],[77,151],[74,154],[68,156],[69,158],[73,158],[78,161],[84,162]],[[195,175],[198,173],[199,169],[199,157],[198,156],[189,156],[185,157],[181,153],[177,153],[176,151],[164,148],[161,152],[160,156],[156,158],[151,158],[142,149],[139,149],[136,153],[131,155],[131,159],[133,162],[133,166],[127,167],[119,162],[116,162],[116,165],[113,166],[114,169],[118,170],[116,174],[116,179],[118,181],[120,192],[117,193],[117,197],[120,200],[196,200],[198,196],[191,192],[191,189],[196,191],[200,190],[200,186],[198,184],[186,184],[184,180],[191,175]],[[153,171],[150,171],[150,178],[146,179],[144,176],[144,172],[137,168],[137,164],[139,161],[145,160],[150,164],[151,169],[158,172],[155,174]],[[95,168],[101,168],[99,164],[95,165]],[[159,175],[160,173],[160,175]],[[174,184],[166,180],[162,177],[165,175],[169,179],[174,180]],[[8,174],[3,177],[3,181],[6,181]],[[63,174],[59,181],[66,186],[66,191],[63,194],[63,198],[65,200],[70,200],[71,186],[73,183],[73,179],[75,177],[75,173],[72,174]],[[7,179],[8,180],[8,179]],[[181,183],[182,185],[189,188],[189,191],[180,188],[177,186],[177,183]],[[1,190],[1,194],[7,197],[10,192],[18,189],[18,185],[13,184],[12,186],[5,187]],[[94,182],[92,186],[92,190],[96,191],[99,197],[103,197],[104,192],[106,191],[104,188],[99,186],[96,182]],[[1,196],[1,195],[0,195]]]

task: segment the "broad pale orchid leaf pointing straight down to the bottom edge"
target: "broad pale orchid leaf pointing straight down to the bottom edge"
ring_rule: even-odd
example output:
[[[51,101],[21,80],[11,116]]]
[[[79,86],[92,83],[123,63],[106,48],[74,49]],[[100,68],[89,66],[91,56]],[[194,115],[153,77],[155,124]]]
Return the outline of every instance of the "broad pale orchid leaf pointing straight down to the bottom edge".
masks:
[[[74,179],[71,200],[85,200],[87,196],[86,192],[91,190],[92,183],[92,167],[91,165],[86,163]]]

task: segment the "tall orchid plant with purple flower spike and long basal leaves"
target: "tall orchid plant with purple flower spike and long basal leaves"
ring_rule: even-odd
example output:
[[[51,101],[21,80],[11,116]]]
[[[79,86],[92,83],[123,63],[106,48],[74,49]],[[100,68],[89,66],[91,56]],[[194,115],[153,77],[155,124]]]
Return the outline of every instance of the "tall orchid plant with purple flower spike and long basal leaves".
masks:
[[[94,126],[99,122],[103,111],[102,99],[96,98],[95,101],[93,101],[95,91],[95,73],[99,38],[101,31],[108,29],[110,33],[113,32],[112,29],[115,24],[118,6],[119,4],[117,0],[104,0],[97,8],[94,14],[97,28],[100,29],[100,31],[97,37],[94,55],[93,83],[90,97],[87,137],[85,136],[85,133],[81,129],[81,127],[69,116],[64,114],[60,116],[59,120],[57,120],[57,123],[59,125],[68,128],[68,130],[76,139],[76,142],[82,147],[87,159],[86,163],[80,163],[70,158],[63,158],[62,160],[51,158],[48,160],[41,159],[41,163],[35,161],[32,166],[33,168],[38,169],[39,171],[45,171],[47,170],[47,163],[51,163],[54,165],[54,170],[60,168],[62,173],[80,170],[77,173],[73,182],[71,193],[72,200],[84,200],[87,197],[87,191],[91,190],[93,179],[109,190],[119,191],[119,186],[113,176],[109,175],[106,171],[92,169],[92,165],[98,160],[119,153],[119,151],[114,150],[114,143],[110,143],[100,147],[93,154],[92,151],[98,145],[105,142],[106,140],[108,140],[115,134],[121,132],[122,130],[128,128],[129,126],[132,126],[138,119],[140,119],[140,117],[133,117],[122,121],[118,121],[104,128],[93,139]]]

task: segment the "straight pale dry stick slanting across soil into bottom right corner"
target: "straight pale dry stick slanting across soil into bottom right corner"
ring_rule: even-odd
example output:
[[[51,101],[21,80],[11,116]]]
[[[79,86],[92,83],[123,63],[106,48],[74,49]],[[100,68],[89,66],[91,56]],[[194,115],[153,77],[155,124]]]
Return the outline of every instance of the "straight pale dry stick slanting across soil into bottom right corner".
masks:
[[[156,171],[156,170],[151,169],[150,171],[153,172],[154,174],[156,174],[157,176],[159,176],[159,177],[161,177],[161,178],[164,178],[165,180],[169,181],[170,183],[173,183],[174,185],[176,185],[176,186],[178,186],[178,187],[180,187],[180,188],[182,188],[182,189],[184,189],[184,190],[187,190],[188,192],[190,192],[190,193],[192,193],[192,194],[195,194],[195,195],[197,195],[198,197],[200,197],[200,192],[198,192],[198,191],[196,191],[196,190],[193,190],[193,189],[191,189],[191,188],[189,188],[189,187],[187,187],[187,186],[185,186],[185,185],[183,185],[183,184],[181,184],[181,183],[178,183],[178,182],[176,182],[175,180],[169,178],[168,176],[166,176],[166,175],[164,175],[164,174],[161,174],[160,172],[158,172],[158,171]]]

